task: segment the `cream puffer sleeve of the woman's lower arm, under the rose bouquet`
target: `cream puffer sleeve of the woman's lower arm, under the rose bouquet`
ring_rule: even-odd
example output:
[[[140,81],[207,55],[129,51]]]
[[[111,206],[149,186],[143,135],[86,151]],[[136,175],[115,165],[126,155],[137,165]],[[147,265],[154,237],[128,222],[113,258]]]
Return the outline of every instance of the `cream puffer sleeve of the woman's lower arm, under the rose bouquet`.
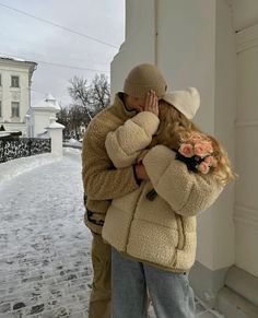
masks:
[[[143,158],[143,165],[155,191],[181,215],[196,215],[210,208],[222,191],[212,175],[188,170],[176,153],[156,145]]]

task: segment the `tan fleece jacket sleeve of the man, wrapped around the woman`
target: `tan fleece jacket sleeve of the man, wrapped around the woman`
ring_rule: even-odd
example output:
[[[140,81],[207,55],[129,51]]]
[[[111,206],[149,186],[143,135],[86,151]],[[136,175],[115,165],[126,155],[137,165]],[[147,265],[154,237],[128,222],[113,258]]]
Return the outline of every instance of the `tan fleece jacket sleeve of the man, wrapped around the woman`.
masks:
[[[105,150],[106,127],[94,121],[90,125],[82,146],[82,180],[92,200],[112,200],[136,189],[138,184],[133,168],[114,167]]]

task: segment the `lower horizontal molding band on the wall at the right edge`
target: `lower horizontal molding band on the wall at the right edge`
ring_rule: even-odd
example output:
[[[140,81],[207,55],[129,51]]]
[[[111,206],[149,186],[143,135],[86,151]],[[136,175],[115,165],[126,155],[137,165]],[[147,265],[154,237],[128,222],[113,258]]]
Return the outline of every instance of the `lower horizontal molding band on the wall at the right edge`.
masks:
[[[233,220],[236,223],[244,223],[258,227],[258,210],[246,205],[236,204]]]

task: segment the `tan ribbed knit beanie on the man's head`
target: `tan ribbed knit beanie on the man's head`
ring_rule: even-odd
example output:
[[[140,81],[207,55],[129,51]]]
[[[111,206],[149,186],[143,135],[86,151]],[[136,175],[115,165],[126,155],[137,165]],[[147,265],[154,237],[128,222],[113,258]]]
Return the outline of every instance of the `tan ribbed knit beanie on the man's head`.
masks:
[[[162,97],[166,87],[161,71],[155,66],[143,63],[129,72],[124,84],[124,92],[133,97],[145,97],[146,93],[153,90],[157,97]]]

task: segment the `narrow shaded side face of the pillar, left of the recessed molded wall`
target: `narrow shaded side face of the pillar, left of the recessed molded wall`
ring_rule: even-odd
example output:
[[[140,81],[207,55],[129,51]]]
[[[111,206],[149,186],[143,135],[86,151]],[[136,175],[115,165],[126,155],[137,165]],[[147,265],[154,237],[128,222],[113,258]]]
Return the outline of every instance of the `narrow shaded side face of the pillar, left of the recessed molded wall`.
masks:
[[[214,134],[225,146],[235,169],[237,57],[232,10],[225,0],[216,0],[215,43]],[[235,184],[231,182],[214,207],[213,266],[215,269],[235,263],[234,202]]]

